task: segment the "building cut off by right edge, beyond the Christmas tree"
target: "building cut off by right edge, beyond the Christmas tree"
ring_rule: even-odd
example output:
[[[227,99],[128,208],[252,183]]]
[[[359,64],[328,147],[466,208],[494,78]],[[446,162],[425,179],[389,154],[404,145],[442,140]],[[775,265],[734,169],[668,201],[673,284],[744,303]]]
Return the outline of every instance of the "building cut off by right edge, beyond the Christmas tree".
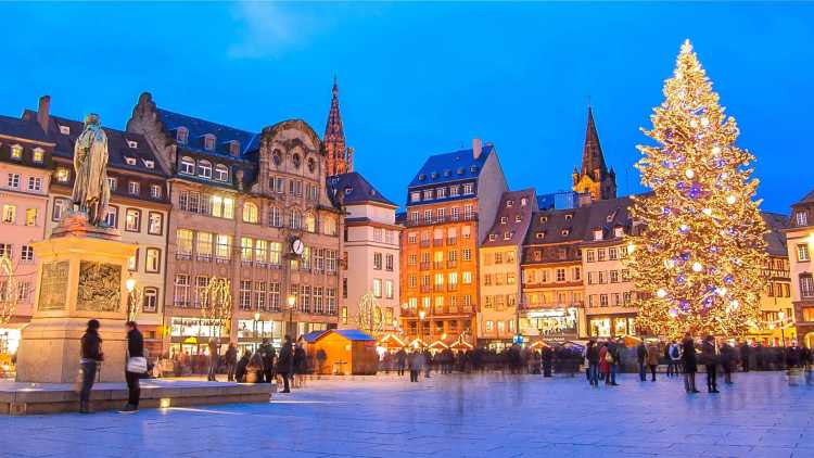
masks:
[[[791,206],[785,232],[797,335],[801,344],[814,348],[814,190]]]

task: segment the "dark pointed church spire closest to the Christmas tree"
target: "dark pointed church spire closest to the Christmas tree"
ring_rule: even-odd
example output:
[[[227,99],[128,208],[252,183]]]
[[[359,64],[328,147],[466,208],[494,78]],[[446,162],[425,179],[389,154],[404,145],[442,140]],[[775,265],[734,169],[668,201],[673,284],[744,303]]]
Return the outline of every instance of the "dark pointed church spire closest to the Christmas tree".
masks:
[[[585,143],[582,150],[582,168],[574,167],[572,175],[573,190],[580,193],[590,193],[594,201],[616,198],[616,174],[608,171],[605,164],[602,147],[594,123],[594,111],[588,105],[588,125],[585,128]],[[587,195],[587,194],[586,194]]]

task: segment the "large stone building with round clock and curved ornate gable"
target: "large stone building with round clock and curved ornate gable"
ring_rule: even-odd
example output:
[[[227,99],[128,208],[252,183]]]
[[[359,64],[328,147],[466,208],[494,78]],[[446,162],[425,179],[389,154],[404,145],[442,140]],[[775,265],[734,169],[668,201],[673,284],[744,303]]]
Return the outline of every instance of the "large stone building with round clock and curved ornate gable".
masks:
[[[249,132],[170,112],[143,93],[127,130],[169,171],[165,321],[174,351],[221,333],[280,344],[338,325],[342,218],[322,142],[305,122]],[[213,277],[230,281],[231,328],[203,318]]]

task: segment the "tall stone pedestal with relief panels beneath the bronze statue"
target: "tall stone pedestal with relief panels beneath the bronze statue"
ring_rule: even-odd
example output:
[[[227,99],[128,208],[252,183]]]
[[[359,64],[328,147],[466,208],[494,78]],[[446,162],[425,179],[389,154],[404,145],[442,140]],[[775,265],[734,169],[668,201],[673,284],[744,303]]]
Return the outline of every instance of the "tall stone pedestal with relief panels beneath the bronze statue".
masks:
[[[125,380],[127,259],[136,245],[113,229],[65,218],[54,236],[34,243],[39,266],[31,322],[17,351],[17,381],[73,383],[79,374],[87,322],[101,322],[100,381]]]

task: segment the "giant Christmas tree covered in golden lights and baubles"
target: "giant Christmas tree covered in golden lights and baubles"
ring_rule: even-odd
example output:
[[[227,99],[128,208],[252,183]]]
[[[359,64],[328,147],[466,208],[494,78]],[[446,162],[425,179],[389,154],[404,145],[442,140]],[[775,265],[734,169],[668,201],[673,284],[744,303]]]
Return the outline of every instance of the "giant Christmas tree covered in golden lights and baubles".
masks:
[[[633,216],[644,226],[628,245],[637,327],[669,336],[741,334],[759,317],[765,283],[754,157],[735,144],[735,119],[724,116],[689,40],[664,96],[653,128],[643,129],[658,144],[639,145],[636,164],[652,190],[635,199]]]

